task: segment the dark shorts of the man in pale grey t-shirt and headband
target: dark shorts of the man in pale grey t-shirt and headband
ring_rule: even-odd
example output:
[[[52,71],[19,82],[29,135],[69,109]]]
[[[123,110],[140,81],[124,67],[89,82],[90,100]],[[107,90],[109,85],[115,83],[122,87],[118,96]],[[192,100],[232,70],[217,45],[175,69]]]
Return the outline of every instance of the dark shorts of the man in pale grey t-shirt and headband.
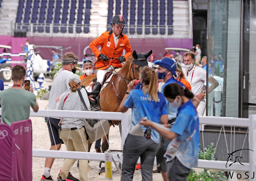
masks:
[[[62,143],[62,139],[60,139],[59,136],[59,129],[61,128],[58,126],[60,119],[56,118],[45,118],[47,120],[47,126],[48,126],[48,131],[51,139],[51,145],[58,145]],[[50,120],[50,121],[49,121]]]

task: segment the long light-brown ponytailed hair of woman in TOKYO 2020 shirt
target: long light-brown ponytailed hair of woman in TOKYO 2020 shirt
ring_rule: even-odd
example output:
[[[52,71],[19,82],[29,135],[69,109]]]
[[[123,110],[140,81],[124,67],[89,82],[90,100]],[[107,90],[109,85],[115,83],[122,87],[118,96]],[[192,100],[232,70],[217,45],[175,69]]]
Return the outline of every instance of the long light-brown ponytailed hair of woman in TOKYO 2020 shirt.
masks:
[[[140,76],[145,84],[142,88],[144,95],[148,93],[149,97],[156,102],[158,100],[156,72],[149,67],[143,67]]]

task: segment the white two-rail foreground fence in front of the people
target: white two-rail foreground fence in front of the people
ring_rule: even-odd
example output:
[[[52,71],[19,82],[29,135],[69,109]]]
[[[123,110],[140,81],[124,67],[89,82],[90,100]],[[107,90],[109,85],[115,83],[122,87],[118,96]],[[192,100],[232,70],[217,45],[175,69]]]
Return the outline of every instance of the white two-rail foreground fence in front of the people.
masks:
[[[1,111],[1,108],[0,108]],[[61,115],[61,116],[60,116]],[[94,112],[94,111],[63,111],[63,110],[39,110],[35,113],[32,109],[30,110],[30,116],[36,117],[66,117],[73,118],[89,118],[89,119],[108,119],[108,120],[122,120],[122,148],[126,136],[129,132],[131,122],[131,109],[125,113],[120,112]],[[226,168],[226,161],[214,161],[214,160],[198,160],[198,168],[211,168],[211,169],[223,169],[223,170],[239,170],[239,171],[250,171],[255,172],[256,168],[256,115],[251,115],[249,119],[246,118],[228,118],[228,117],[213,117],[213,116],[199,116],[200,124],[210,125],[232,125],[232,126],[243,126],[249,128],[249,149],[250,151],[250,162],[233,163],[229,168]],[[73,151],[49,151],[49,150],[33,150],[32,155],[35,157],[52,157],[52,158],[70,158],[70,159],[89,159],[104,161],[104,153],[90,153],[90,152],[76,152]],[[115,161],[120,161],[116,155],[114,156]],[[232,162],[228,162],[230,164]],[[253,179],[251,179],[253,180]]]

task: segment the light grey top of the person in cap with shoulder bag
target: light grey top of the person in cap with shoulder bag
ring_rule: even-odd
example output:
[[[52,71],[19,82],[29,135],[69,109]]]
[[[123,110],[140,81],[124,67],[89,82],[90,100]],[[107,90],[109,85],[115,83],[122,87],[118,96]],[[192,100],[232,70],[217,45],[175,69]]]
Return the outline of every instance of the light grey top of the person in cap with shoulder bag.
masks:
[[[69,94],[69,95],[68,95]],[[84,102],[90,110],[90,103],[87,96],[87,93],[85,89],[81,89],[81,94],[84,99]],[[68,95],[68,96],[67,96]],[[65,102],[64,102],[65,100]],[[78,92],[71,92],[71,89],[69,88],[67,91],[65,91],[57,104],[56,107],[57,110],[73,110],[73,111],[85,111],[85,107],[78,95]],[[83,120],[82,119],[75,119],[75,118],[64,118],[62,121],[62,128],[81,128],[83,126]]]

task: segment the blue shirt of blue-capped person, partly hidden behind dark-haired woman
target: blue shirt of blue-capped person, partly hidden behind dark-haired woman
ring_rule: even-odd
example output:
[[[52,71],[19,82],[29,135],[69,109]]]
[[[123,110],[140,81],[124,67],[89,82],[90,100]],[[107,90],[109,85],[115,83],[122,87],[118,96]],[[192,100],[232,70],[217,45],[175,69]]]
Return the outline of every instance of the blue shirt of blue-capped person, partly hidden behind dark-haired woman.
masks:
[[[166,81],[166,83],[163,85],[161,92],[164,93],[165,86],[167,86],[168,84],[171,84],[171,83],[177,83],[177,84],[181,85],[182,87],[184,87],[183,83],[181,83],[180,81],[177,81],[176,79],[174,79],[172,77],[172,78],[168,79]],[[166,105],[167,105],[167,110],[168,110],[168,120],[176,118],[177,117],[178,108],[170,106],[169,101],[167,99],[166,99]]]

